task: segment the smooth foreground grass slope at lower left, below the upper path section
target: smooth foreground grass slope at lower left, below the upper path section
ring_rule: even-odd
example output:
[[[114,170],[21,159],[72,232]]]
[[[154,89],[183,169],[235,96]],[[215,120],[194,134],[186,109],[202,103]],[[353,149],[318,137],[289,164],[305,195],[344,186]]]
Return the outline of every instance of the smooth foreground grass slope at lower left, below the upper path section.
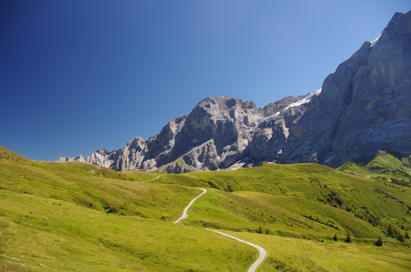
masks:
[[[0,250],[29,267],[43,263],[57,270],[180,271],[205,266],[241,271],[257,253],[199,228],[107,215],[7,190],[0,197]]]

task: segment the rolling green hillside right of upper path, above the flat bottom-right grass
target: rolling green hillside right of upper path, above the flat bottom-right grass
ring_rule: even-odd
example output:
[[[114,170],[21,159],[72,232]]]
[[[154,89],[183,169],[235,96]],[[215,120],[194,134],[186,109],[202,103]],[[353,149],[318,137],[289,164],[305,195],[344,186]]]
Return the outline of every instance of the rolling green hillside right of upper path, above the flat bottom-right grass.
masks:
[[[377,238],[388,224],[402,231],[411,229],[411,189],[321,165],[264,164],[235,171],[170,174],[151,182],[216,188],[195,203],[194,207],[203,203],[204,208],[193,212],[188,219],[192,224],[210,225],[215,213],[220,228],[245,230],[262,225],[292,234],[315,232],[321,239],[347,231],[357,238]],[[201,213],[199,218],[197,213]],[[373,226],[370,218],[381,225]]]

